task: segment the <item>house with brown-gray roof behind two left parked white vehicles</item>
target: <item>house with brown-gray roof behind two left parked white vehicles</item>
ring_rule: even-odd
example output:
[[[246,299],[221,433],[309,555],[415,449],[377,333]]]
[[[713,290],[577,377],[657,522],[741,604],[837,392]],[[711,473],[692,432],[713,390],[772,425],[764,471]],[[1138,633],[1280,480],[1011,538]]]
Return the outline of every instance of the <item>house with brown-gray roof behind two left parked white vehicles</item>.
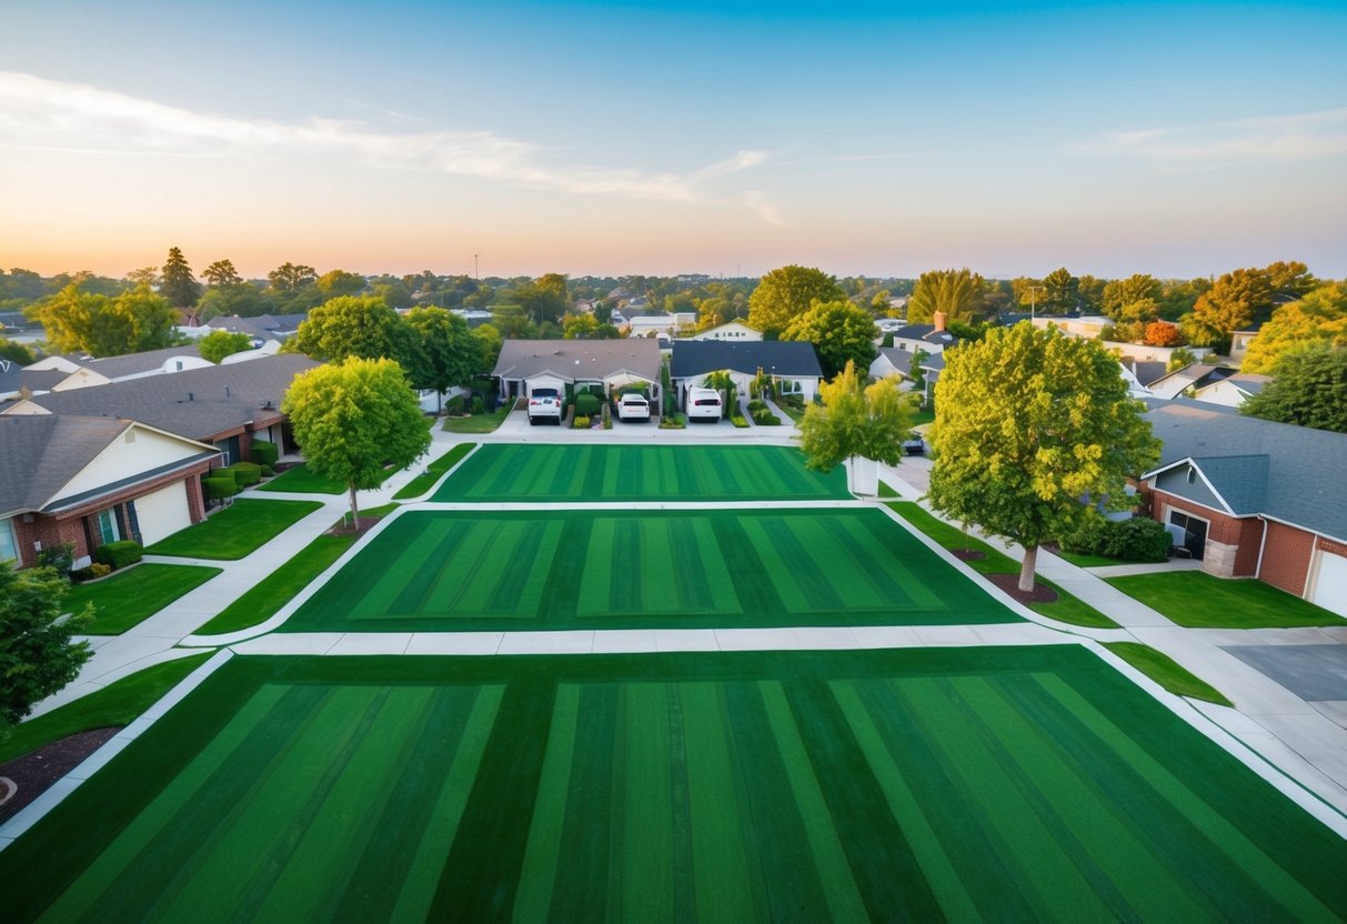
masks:
[[[653,339],[508,339],[492,376],[502,399],[527,397],[535,388],[560,393],[581,384],[601,384],[605,392],[644,385],[660,400],[660,346]]]

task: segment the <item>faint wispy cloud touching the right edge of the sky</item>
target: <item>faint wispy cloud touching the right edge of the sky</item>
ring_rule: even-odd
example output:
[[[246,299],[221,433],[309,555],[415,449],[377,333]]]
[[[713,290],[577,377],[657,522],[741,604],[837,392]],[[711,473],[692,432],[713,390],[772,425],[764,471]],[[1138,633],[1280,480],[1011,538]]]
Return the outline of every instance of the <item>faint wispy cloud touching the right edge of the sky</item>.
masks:
[[[1071,148],[1162,162],[1304,160],[1347,154],[1347,109],[1110,132]]]

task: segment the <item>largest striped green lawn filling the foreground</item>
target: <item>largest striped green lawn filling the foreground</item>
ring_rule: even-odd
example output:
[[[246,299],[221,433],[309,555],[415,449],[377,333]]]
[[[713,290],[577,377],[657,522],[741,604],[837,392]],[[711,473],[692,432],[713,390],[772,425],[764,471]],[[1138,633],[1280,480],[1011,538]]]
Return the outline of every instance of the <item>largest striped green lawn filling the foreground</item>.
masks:
[[[5,919],[1319,921],[1347,843],[1075,647],[236,657]]]

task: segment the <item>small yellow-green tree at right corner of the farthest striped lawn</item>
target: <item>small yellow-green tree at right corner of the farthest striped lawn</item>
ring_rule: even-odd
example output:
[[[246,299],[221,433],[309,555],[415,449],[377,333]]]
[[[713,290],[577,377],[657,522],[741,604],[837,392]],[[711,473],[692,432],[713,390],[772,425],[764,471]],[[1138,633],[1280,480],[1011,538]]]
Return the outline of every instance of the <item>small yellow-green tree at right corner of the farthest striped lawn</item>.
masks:
[[[804,408],[800,447],[804,465],[831,471],[842,461],[874,459],[886,465],[902,461],[902,440],[912,430],[912,405],[898,391],[897,378],[881,378],[862,388],[855,364],[819,385],[822,404]]]

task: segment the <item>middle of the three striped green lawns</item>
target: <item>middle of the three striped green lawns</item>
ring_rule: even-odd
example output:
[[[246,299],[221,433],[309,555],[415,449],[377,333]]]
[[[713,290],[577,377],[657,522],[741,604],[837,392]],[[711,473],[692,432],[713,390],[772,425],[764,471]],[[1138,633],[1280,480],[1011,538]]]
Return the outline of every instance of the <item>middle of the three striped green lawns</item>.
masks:
[[[414,510],[283,630],[1013,621],[874,509]]]

